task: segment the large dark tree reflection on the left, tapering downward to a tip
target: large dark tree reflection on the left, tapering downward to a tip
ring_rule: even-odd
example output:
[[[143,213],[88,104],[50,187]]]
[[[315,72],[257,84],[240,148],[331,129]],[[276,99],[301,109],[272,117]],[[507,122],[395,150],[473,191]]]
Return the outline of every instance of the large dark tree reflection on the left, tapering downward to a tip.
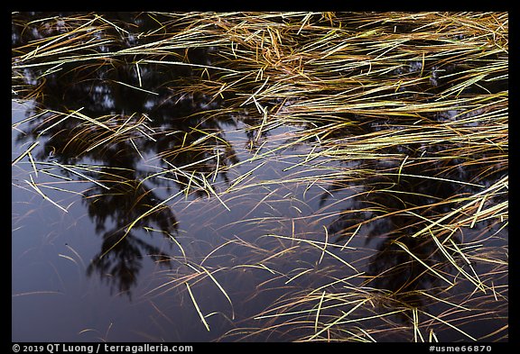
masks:
[[[69,31],[74,27],[68,27],[70,22],[92,19],[77,13],[73,18],[67,16],[14,15],[14,52],[20,55],[31,50],[26,44],[32,41]],[[125,18],[121,20],[121,16]],[[37,18],[47,21],[34,21]],[[75,54],[129,48],[150,40],[139,41],[133,34],[136,31],[161,30],[153,19],[139,14],[108,13],[104,19],[107,21],[99,21],[96,31],[70,34],[70,46],[76,41],[89,43],[88,50],[79,45]],[[208,60],[209,52],[172,50],[161,58],[198,62]],[[55,71],[39,66],[23,68],[13,80],[17,97],[35,101],[28,116],[37,116],[31,120],[30,131],[19,134],[17,140],[39,139],[42,149],[34,156],[40,161],[98,168],[85,172],[98,183],[84,193],[83,203],[103,242],[87,272],[89,276],[98,274],[112,291],[128,296],[137,284],[144,259],[150,257],[163,267],[170,265],[166,251],[138,231],[153,229],[167,238],[175,237],[178,222],[165,203],[172,188],[206,195],[190,184],[190,176],[203,176],[208,183],[228,182],[226,167],[238,162],[224,134],[224,127],[235,121],[206,113],[219,106],[218,99],[176,90],[181,80],[200,76],[201,70],[161,64],[137,66],[138,59],[128,54],[64,62]],[[77,177],[67,169],[61,173]]]

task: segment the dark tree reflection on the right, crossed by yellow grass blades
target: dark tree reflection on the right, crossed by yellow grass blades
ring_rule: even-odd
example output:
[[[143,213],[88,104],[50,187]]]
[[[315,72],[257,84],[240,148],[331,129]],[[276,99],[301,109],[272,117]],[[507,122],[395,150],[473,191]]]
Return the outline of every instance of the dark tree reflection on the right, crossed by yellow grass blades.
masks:
[[[399,149],[404,147],[384,152],[395,154]],[[430,146],[427,153],[420,146],[410,145],[406,149],[413,160],[414,156],[428,158],[428,154],[438,153],[444,147]],[[366,245],[372,246],[374,254],[367,261],[367,281],[363,285],[385,290],[392,301],[384,306],[424,308],[434,303],[435,295],[448,286],[442,277],[452,279],[459,272],[449,257],[460,267],[465,261],[450,247],[444,248],[448,255],[443,254],[433,238],[450,238],[454,244],[460,244],[461,231],[446,230],[432,237],[413,235],[460,207],[457,202],[460,197],[481,191],[476,186],[454,181],[488,186],[501,173],[496,171],[483,177],[485,166],[462,168],[458,159],[417,160],[420,162],[404,166],[400,160],[363,161],[365,171],[374,171],[372,177],[363,178],[361,183],[354,178],[337,181],[321,197],[321,204],[325,204],[330,195],[341,190],[357,191],[349,209],[330,223],[329,232],[336,236],[336,242],[341,242],[357,230],[357,237],[365,237]],[[486,224],[482,222],[478,227]],[[402,320],[409,318],[403,314]]]

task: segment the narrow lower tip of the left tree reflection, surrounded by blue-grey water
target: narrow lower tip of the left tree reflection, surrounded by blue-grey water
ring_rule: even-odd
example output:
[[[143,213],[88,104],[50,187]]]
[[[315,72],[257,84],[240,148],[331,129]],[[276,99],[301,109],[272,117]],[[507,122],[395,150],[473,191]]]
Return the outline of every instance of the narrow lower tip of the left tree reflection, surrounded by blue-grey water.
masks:
[[[96,222],[96,231],[103,231],[101,251],[93,258],[87,271],[88,275],[97,271],[99,277],[117,286],[119,293],[130,296],[131,288],[137,282],[143,251],[161,266],[168,266],[170,262],[168,254],[126,229],[138,220],[134,225],[137,229],[158,229],[173,237],[177,222],[172,210],[159,204],[160,198],[153,190],[133,179],[132,169],[119,168],[117,174],[110,171],[110,168],[104,168],[99,173],[103,186],[91,188],[83,199],[88,204],[88,216]],[[107,224],[114,226],[106,231]]]

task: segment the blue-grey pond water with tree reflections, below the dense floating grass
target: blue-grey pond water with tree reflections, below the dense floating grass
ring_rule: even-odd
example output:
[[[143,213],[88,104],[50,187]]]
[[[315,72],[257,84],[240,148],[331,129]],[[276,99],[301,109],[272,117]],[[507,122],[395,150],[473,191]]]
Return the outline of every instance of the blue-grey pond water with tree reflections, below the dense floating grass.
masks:
[[[138,24],[135,32],[153,26],[144,16],[136,20],[130,14],[114,15]],[[19,14],[14,23],[49,16]],[[13,25],[13,47],[61,31],[60,26],[45,29],[22,31]],[[128,46],[142,44],[131,35],[125,41]],[[209,64],[216,51],[191,50],[190,62]],[[434,315],[443,313],[444,321],[453,321],[476,339],[506,324],[503,269],[494,272],[493,264],[475,265],[485,275],[481,280],[500,291],[497,298],[489,290],[486,295],[470,295],[475,286],[468,280],[460,279],[457,286],[446,289],[442,279],[425,273],[420,262],[396,246],[403,234],[420,230],[420,218],[399,213],[381,217],[350,238],[352,225],[375,216],[355,212],[367,205],[398,210],[402,204],[427,205],[474,193],[476,187],[416,177],[395,181],[377,174],[353,182],[345,171],[360,163],[376,170],[389,167],[378,161],[349,165],[325,157],[302,163],[311,151],[320,149],[319,141],[298,142],[310,125],[274,124],[253,130],[258,118],[248,110],[254,106],[211,114],[226,107],[229,97],[212,100],[177,92],[176,85],[199,77],[200,71],[157,64],[137,73],[135,65],[125,60],[104,66],[71,62],[44,81],[38,78],[43,68],[24,68],[24,79],[14,80],[14,87],[41,85],[42,91],[30,99],[13,95],[12,101],[12,159],[39,142],[31,151],[37,171],[28,156],[12,168],[12,340],[294,340],[314,332],[314,317],[308,315],[302,328],[285,322],[291,315],[269,317],[273,313],[268,310],[339,278],[350,280],[329,291],[348,288],[357,301],[368,287],[395,295],[395,304],[367,303],[358,319],[392,313],[408,304]],[[53,112],[71,114],[55,118]],[[129,134],[121,133],[124,139],[95,144],[92,141],[103,141],[107,135],[95,126],[87,128],[85,116],[104,117],[102,122],[113,129],[133,128]],[[26,118],[32,119],[24,122]],[[371,129],[378,126],[374,123]],[[421,156],[436,152],[413,150]],[[452,163],[455,166],[456,161]],[[423,172],[406,170],[411,176]],[[488,186],[498,174],[504,171],[489,173],[478,183]],[[477,175],[477,168],[459,168],[445,178],[472,181]],[[200,186],[188,186],[190,176]],[[38,194],[32,182],[55,204]],[[395,186],[393,190],[403,196],[385,193],[380,187],[385,185]],[[374,193],[363,193],[372,189]],[[441,208],[451,206],[432,207],[430,213],[443,213]],[[291,238],[327,240],[330,253]],[[500,224],[479,222],[472,229],[460,228],[452,240],[460,247],[486,247],[497,263],[506,261],[501,252],[507,247],[507,229]],[[442,260],[432,240],[410,239],[405,246],[431,266]],[[455,274],[449,266],[441,272]],[[210,331],[200,320],[186,282]],[[444,301],[413,292],[430,290]],[[294,304],[292,310],[309,309],[319,299],[301,307]],[[452,304],[476,310],[457,319],[457,306]],[[330,314],[336,310],[331,307]],[[420,320],[428,322],[424,316]],[[376,340],[413,340],[412,320],[408,311],[389,314],[385,321],[346,322],[345,328],[379,329],[373,334]],[[246,338],[238,330],[276,325],[277,331]],[[430,330],[443,341],[469,340],[439,323],[425,325],[422,335],[427,337]],[[503,335],[498,332],[487,340]]]

